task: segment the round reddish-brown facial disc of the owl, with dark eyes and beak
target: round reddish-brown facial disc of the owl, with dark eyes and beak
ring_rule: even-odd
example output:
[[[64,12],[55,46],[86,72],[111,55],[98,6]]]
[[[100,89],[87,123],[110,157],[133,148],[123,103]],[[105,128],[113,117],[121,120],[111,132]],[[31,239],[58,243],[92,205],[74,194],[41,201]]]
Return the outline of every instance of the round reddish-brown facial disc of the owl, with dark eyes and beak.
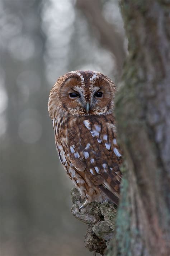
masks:
[[[63,108],[72,115],[81,116],[101,115],[111,110],[115,89],[112,81],[100,73],[82,74],[70,73],[60,85],[58,100]]]

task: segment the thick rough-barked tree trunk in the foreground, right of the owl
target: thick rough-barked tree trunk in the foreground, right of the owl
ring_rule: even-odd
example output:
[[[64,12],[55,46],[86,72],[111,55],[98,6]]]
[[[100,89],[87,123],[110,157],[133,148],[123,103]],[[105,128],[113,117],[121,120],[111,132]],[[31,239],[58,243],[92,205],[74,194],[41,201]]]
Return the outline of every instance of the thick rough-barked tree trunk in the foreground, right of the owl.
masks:
[[[122,0],[129,56],[116,97],[128,171],[107,255],[170,255],[170,1]]]

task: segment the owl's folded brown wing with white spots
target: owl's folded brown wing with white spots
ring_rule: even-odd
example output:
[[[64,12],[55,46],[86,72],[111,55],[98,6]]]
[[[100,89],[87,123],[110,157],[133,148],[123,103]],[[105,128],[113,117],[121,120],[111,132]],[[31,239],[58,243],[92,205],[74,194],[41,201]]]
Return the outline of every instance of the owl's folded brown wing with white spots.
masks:
[[[118,204],[122,173],[122,151],[115,138],[115,126],[109,118],[88,117],[69,133],[70,160],[79,171]]]

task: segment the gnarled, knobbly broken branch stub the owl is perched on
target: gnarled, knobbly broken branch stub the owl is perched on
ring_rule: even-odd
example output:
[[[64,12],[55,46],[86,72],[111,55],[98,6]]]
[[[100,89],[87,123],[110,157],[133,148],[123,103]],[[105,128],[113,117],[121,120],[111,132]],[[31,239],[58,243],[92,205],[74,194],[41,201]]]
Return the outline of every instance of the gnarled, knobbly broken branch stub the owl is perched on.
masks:
[[[113,204],[91,203],[79,211],[81,206],[80,193],[78,189],[71,190],[72,214],[80,221],[87,224],[85,235],[85,247],[89,251],[98,252],[104,255],[108,242],[114,234],[115,216],[117,214]]]

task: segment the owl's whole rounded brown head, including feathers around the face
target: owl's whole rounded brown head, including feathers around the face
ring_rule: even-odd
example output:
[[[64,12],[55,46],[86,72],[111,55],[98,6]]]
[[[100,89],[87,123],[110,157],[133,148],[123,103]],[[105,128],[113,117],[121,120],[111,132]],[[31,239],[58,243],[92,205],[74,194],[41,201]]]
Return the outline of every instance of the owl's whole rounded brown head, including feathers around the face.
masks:
[[[58,78],[48,101],[51,118],[58,111],[72,115],[101,115],[109,113],[114,106],[114,83],[95,71],[72,71]]]

